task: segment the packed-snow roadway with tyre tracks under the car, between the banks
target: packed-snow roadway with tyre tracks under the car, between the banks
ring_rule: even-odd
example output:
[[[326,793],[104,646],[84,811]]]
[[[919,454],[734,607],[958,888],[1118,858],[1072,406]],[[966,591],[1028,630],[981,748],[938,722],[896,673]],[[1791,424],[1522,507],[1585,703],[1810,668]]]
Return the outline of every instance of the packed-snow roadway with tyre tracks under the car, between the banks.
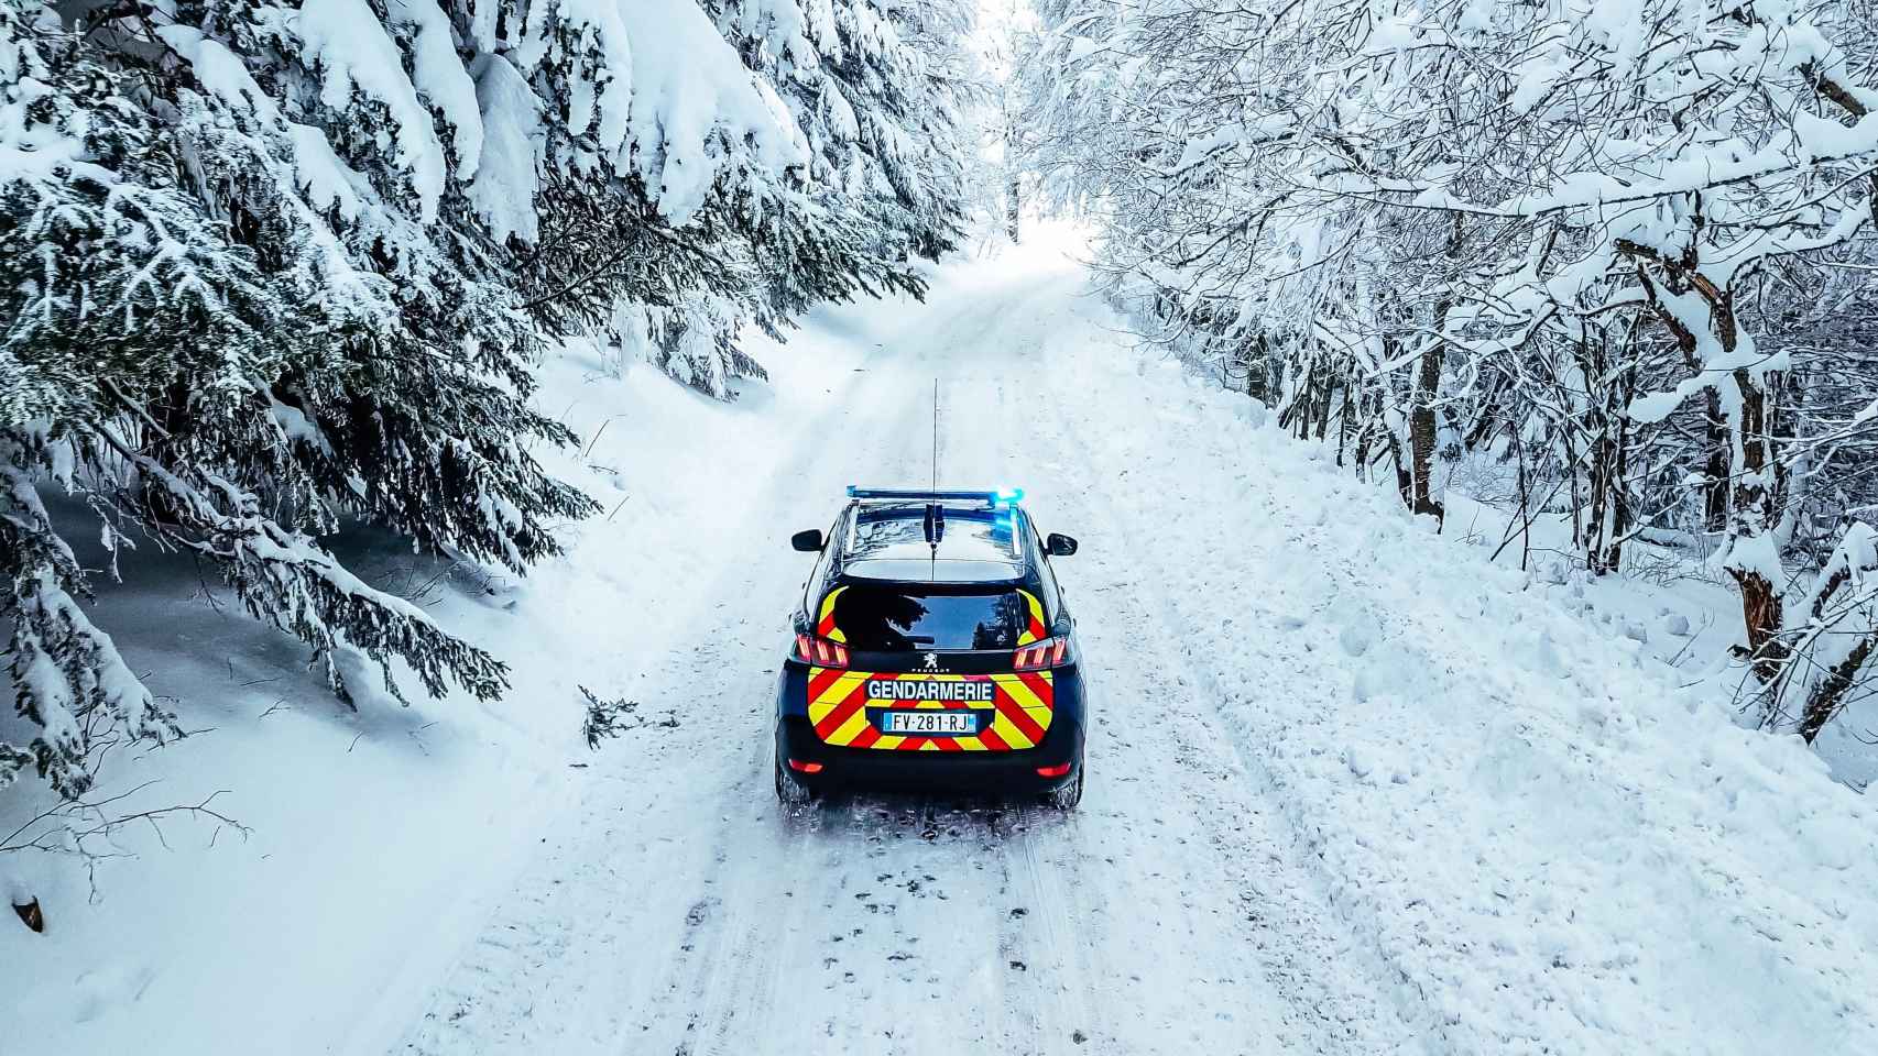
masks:
[[[1386,1052],[1405,1028],[1373,953],[1328,912],[1298,840],[1170,626],[1153,523],[1082,458],[1110,415],[1046,349],[1080,278],[954,278],[856,313],[845,394],[736,508],[669,647],[620,643],[631,696],[676,730],[607,748],[571,812],[406,1041],[470,1052]],[[871,324],[870,324],[871,323]],[[828,328],[819,328],[828,334]],[[849,482],[1022,482],[1065,563],[1095,685],[1080,814],[770,793],[772,681],[806,559]],[[623,563],[640,561],[622,553]]]

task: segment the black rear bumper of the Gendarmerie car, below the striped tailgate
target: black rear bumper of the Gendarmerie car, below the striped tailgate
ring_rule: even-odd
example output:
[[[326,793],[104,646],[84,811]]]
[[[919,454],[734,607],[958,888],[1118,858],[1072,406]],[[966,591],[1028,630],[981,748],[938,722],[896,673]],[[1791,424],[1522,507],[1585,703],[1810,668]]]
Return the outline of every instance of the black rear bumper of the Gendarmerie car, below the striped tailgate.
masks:
[[[824,745],[806,715],[776,720],[779,763],[821,763],[821,773],[800,773],[802,784],[828,788],[956,790],[956,792],[1050,792],[1082,769],[1082,722],[1057,715],[1040,745],[1018,752],[894,752]],[[1040,777],[1039,767],[1070,763],[1061,777]]]

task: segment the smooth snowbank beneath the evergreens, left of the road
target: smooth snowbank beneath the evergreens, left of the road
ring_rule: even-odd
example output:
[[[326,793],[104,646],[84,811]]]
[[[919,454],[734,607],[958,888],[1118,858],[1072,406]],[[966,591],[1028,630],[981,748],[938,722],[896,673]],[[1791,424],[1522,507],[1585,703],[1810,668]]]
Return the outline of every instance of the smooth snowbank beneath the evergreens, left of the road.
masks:
[[[776,385],[734,403],[648,366],[612,377],[584,347],[552,358],[535,403],[582,445],[541,454],[605,512],[560,525],[567,555],[526,580],[439,578],[389,544],[342,553],[509,662],[515,688],[496,703],[361,694],[347,713],[304,670],[306,649],[233,606],[212,572],[139,561],[122,585],[100,578],[96,619],[192,732],[115,758],[100,795],[141,788],[113,814],[214,795],[248,831],[188,816],[126,825],[92,846],[113,855],[94,876],[69,855],[0,855],[0,889],[17,882],[47,921],[43,936],[0,921],[0,1054],[203,1052],[216,1039],[225,1052],[327,1052],[402,1024],[501,897],[533,827],[571,801],[578,767],[605,765],[580,741],[578,686],[631,696],[648,656],[697,634],[684,617],[704,600],[689,583],[747,546],[740,497],[830,398],[817,371],[847,370],[845,345],[808,362],[798,349],[815,345],[813,330],[766,343]],[[359,673],[372,688],[376,671]],[[0,837],[51,805],[15,786]]]

